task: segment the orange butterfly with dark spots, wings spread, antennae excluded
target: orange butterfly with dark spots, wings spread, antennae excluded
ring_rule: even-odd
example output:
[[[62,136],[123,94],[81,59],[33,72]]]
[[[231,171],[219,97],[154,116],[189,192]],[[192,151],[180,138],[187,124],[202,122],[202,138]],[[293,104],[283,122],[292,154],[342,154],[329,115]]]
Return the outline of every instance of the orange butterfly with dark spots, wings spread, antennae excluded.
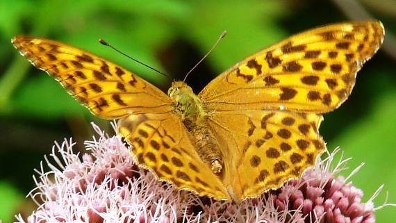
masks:
[[[315,165],[322,113],[342,104],[383,41],[381,22],[331,24],[292,35],[226,70],[194,94],[167,94],[75,47],[17,36],[15,48],[94,115],[119,119],[140,167],[179,190],[240,201]]]

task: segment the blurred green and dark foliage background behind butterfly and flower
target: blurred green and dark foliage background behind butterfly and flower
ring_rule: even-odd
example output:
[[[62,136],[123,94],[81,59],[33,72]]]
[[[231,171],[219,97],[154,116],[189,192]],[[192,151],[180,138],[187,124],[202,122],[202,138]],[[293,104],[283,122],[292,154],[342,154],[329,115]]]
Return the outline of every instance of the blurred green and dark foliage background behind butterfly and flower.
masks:
[[[35,206],[24,198],[35,187],[31,175],[53,141],[73,137],[83,148],[92,135],[90,115],[56,81],[35,69],[10,43],[35,35],[88,50],[139,74],[163,90],[170,82],[97,42],[104,38],[134,58],[183,79],[228,31],[211,55],[189,76],[199,92],[217,74],[251,53],[308,28],[368,17],[386,29],[385,44],[358,74],[349,99],[324,115],[321,133],[329,149],[342,147],[348,166],[365,167],[352,178],[369,199],[382,204],[386,190],[396,203],[396,1],[0,1],[0,220],[12,222]],[[345,174],[351,170],[347,170]],[[393,222],[396,208],[376,212]]]

